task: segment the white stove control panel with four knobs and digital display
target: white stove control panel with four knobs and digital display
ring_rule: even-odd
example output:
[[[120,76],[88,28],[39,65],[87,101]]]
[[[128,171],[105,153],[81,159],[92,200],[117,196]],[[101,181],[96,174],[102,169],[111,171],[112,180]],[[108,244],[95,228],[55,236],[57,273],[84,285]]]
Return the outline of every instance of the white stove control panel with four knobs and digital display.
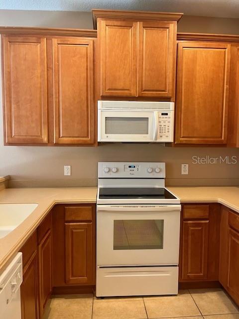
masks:
[[[99,162],[99,178],[165,178],[161,162]]]

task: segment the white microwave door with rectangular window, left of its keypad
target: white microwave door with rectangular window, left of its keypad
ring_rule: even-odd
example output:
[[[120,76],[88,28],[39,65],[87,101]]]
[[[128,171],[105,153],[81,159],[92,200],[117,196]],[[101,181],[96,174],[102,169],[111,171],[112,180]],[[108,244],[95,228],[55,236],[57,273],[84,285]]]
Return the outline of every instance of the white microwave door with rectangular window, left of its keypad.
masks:
[[[100,110],[98,113],[99,142],[153,142],[154,112]]]

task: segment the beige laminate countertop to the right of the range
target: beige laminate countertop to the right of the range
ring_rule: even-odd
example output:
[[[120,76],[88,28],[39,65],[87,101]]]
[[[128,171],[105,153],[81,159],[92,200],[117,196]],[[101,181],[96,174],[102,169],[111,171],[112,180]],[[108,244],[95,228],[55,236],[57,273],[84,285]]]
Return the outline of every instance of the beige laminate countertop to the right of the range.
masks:
[[[182,203],[220,203],[239,213],[239,186],[167,187]]]

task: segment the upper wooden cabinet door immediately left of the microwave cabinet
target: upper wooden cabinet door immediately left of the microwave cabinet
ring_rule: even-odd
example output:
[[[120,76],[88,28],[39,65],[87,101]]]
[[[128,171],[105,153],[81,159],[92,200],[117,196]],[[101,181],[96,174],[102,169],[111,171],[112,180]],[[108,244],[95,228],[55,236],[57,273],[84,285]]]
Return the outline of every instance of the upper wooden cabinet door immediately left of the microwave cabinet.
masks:
[[[53,39],[54,143],[94,143],[94,40]]]

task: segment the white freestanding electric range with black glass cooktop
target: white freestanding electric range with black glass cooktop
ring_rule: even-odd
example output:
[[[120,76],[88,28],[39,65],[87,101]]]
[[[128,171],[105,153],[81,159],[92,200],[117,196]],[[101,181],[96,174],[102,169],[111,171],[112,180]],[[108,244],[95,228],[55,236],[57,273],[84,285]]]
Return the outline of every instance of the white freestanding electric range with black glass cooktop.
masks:
[[[165,163],[99,162],[97,297],[178,293],[180,211]]]

